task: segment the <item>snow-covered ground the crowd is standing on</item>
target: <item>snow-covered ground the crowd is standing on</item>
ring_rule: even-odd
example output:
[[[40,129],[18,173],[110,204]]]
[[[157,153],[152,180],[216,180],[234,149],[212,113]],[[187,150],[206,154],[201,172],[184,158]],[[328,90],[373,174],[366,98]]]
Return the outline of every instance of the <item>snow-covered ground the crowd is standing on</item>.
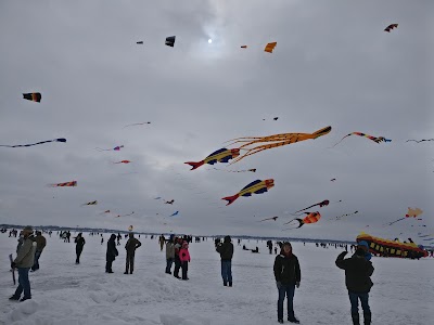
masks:
[[[104,273],[108,236],[104,234],[101,245],[98,236],[85,234],[81,264],[76,265],[75,244],[65,244],[54,234],[52,238],[46,235],[41,269],[29,273],[33,299],[15,302],[8,300],[15,289],[8,256],[15,256],[17,242],[0,234],[0,324],[277,324],[275,255],[267,252],[265,242],[242,242],[247,248],[258,246],[260,253],[243,251],[234,243],[230,288],[222,286],[219,255],[212,238],[190,245],[192,261],[186,282],[164,273],[165,249],[162,252],[157,240],[144,235],[136,253],[135,274],[123,274],[125,239],[117,246],[115,273]],[[293,243],[293,250],[302,268],[302,284],[294,298],[301,324],[350,324],[344,271],[334,265],[342,249]],[[374,257],[372,262],[372,324],[433,324],[434,259]]]

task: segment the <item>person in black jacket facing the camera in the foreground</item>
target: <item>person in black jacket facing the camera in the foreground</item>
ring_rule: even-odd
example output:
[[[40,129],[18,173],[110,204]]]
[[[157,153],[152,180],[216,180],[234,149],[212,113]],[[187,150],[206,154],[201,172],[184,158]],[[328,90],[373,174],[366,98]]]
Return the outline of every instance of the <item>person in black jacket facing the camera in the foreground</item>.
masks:
[[[280,255],[275,260],[275,278],[279,290],[278,300],[278,322],[283,323],[283,300],[288,298],[288,321],[298,324],[299,321],[294,315],[294,291],[295,286],[299,287],[302,272],[298,259],[292,253],[291,243],[283,243]]]

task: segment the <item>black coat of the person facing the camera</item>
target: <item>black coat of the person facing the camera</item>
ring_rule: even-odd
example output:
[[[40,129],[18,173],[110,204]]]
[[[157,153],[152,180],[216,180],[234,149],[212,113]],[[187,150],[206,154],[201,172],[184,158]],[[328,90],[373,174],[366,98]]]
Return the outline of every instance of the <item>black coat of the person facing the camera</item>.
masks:
[[[302,272],[299,271],[298,259],[295,255],[285,256],[283,252],[278,255],[275,260],[275,278],[282,285],[295,284],[301,282]]]

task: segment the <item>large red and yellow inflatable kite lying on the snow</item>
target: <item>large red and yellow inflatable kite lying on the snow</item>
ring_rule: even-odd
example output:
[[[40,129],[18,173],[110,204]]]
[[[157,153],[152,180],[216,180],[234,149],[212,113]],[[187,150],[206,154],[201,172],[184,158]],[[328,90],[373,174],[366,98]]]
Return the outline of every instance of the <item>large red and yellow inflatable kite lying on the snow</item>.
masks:
[[[408,239],[410,243],[401,243],[398,238],[395,240],[383,239],[361,232],[357,236],[356,242],[367,242],[371,253],[383,257],[418,258],[427,256],[423,246],[416,245],[411,238]]]

